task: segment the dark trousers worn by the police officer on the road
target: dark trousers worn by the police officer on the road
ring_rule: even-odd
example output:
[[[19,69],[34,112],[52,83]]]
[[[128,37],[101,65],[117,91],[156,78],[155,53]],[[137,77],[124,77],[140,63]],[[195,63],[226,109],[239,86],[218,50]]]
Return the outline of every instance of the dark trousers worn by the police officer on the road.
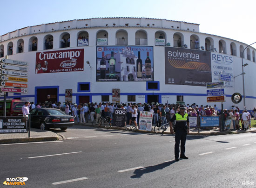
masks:
[[[175,130],[175,158],[179,157],[180,153],[180,141],[181,141],[181,156],[185,156],[185,144],[186,144],[187,132],[182,129]]]

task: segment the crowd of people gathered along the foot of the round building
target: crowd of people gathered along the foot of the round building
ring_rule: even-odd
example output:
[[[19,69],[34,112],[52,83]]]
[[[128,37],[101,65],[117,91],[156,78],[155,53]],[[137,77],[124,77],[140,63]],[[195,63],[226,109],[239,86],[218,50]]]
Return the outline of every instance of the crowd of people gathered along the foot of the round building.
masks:
[[[33,102],[31,103],[31,108],[33,108]],[[49,107],[49,108],[57,108],[65,112],[67,115],[73,115],[75,117],[75,120],[77,123],[88,123],[92,122],[94,118],[99,117],[100,115],[102,117],[109,116],[111,119],[113,119],[113,113],[115,112],[115,109],[125,109],[127,111],[127,124],[131,124],[131,121],[136,123],[139,121],[139,115],[141,111],[146,112],[152,112],[153,113],[153,124],[156,124],[160,119],[162,120],[162,123],[167,123],[170,121],[170,119],[174,116],[175,113],[180,112],[180,105],[179,104],[159,104],[159,103],[151,103],[151,104],[141,104],[141,103],[127,103],[127,104],[118,104],[118,103],[110,103],[110,102],[100,102],[100,103],[79,103],[74,104],[70,102],[65,102],[61,104],[61,102],[44,102],[44,103],[38,103],[34,105],[34,107],[40,108],[40,107]],[[224,121],[231,117],[231,130],[239,130],[239,129],[248,129],[251,128],[250,124],[250,118],[254,115],[256,115],[256,108],[252,111],[252,114],[247,112],[246,110],[243,111],[242,118],[240,118],[239,114],[240,109],[238,107],[232,106],[230,110],[224,109],[223,115],[224,115]],[[217,116],[220,115],[220,110],[216,105],[209,106],[203,106],[200,107],[196,105],[195,103],[186,106],[186,113],[188,113],[189,116]],[[248,115],[244,115],[244,113],[247,113]],[[247,119],[248,117],[248,119]],[[239,121],[243,122],[243,119],[248,120],[248,126],[242,126],[240,127]],[[247,122],[246,123],[247,125]],[[242,123],[242,125],[244,124]]]

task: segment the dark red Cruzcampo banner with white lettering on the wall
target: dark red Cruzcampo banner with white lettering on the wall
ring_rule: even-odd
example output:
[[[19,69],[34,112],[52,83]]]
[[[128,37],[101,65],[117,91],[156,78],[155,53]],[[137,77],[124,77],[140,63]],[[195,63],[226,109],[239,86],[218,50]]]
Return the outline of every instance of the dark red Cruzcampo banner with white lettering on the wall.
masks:
[[[84,49],[36,53],[35,74],[84,70]]]

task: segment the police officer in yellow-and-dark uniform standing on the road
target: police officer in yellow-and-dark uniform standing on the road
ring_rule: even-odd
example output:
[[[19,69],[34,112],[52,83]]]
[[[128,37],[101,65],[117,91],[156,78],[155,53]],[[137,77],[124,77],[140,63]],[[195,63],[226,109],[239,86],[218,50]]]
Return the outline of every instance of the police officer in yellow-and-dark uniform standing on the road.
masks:
[[[179,161],[179,153],[180,153],[180,141],[181,141],[181,156],[180,159],[189,159],[189,157],[185,156],[185,144],[186,144],[186,137],[187,133],[189,133],[189,117],[188,114],[185,113],[185,106],[182,105],[180,107],[180,112],[175,113],[175,115],[170,120],[170,127],[171,133],[172,130],[172,123],[176,120],[175,123],[175,161]]]

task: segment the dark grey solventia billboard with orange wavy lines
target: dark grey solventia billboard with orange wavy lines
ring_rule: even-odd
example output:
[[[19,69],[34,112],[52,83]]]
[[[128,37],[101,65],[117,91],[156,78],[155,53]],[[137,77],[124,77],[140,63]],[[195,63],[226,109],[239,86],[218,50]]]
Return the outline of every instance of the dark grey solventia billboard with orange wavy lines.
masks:
[[[205,87],[211,81],[210,52],[165,47],[165,84]]]

